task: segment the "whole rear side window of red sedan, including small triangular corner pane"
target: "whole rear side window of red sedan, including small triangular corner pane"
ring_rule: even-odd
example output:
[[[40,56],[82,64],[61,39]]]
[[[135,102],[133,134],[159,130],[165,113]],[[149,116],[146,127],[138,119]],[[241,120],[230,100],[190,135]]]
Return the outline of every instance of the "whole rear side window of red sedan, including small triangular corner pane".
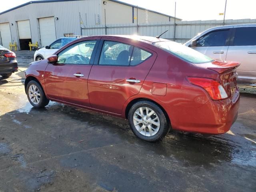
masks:
[[[129,66],[138,65],[149,58],[152,54],[138,47],[128,44],[104,41],[99,64]]]

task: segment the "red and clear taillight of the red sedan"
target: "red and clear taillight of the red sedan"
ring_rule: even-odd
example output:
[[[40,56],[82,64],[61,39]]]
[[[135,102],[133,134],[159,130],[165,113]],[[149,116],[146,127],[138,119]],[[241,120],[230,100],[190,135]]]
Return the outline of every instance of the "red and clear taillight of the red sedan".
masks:
[[[187,77],[188,82],[193,85],[204,88],[212,100],[221,100],[228,98],[224,87],[216,80],[201,77]]]

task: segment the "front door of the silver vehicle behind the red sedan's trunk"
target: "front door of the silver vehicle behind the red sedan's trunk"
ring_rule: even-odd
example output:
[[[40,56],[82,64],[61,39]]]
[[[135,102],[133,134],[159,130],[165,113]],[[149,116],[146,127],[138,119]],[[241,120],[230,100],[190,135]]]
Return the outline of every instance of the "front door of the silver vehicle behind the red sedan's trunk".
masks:
[[[194,50],[205,54],[215,60],[226,60],[229,37],[232,28],[218,29],[210,31],[197,39]]]

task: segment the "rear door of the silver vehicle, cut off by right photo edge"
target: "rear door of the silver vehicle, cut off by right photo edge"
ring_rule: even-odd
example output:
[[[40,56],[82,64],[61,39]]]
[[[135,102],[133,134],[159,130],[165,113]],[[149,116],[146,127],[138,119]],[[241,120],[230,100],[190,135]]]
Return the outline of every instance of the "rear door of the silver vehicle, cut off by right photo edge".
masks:
[[[238,61],[238,78],[256,80],[256,26],[235,26],[226,60]]]

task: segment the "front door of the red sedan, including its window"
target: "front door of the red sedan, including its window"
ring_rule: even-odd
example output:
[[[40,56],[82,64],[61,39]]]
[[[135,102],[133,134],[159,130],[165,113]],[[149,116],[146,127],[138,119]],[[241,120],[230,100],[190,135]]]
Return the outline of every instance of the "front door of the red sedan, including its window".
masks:
[[[90,106],[87,81],[98,42],[92,39],[72,44],[58,54],[56,64],[48,64],[44,75],[51,99]]]

